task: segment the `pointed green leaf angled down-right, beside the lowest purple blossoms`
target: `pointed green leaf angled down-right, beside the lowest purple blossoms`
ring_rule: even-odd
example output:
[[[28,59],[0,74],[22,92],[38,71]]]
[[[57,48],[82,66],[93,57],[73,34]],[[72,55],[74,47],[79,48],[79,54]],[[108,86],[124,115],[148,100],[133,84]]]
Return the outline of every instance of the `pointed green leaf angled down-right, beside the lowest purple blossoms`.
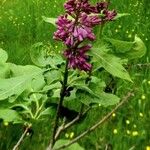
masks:
[[[94,62],[99,64],[99,66],[102,66],[113,76],[132,81],[128,72],[122,66],[121,59],[112,54],[108,54],[103,49],[105,50],[106,47],[93,48],[91,53],[93,54]]]

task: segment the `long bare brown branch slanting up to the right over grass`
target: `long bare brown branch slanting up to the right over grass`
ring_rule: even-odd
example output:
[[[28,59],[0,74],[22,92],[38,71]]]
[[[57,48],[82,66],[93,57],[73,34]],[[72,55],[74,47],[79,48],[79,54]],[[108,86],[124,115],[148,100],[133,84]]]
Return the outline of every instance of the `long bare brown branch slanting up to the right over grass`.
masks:
[[[128,101],[128,99],[133,96],[134,94],[132,92],[128,92],[127,95],[123,98],[123,100],[118,103],[116,105],[116,107],[109,112],[106,116],[104,116],[99,122],[97,122],[95,125],[93,125],[92,127],[88,128],[86,131],[84,131],[83,133],[81,133],[79,136],[77,136],[76,138],[74,138],[73,140],[71,140],[69,143],[62,145],[59,148],[56,148],[54,150],[61,150],[64,149],[66,147],[69,147],[70,145],[74,144],[75,142],[77,142],[78,140],[80,140],[81,138],[83,138],[84,136],[86,136],[87,134],[89,134],[90,132],[94,131],[97,127],[99,127],[100,125],[102,125],[104,122],[106,122],[111,116],[112,114],[118,110],[118,108],[120,108],[125,102]]]

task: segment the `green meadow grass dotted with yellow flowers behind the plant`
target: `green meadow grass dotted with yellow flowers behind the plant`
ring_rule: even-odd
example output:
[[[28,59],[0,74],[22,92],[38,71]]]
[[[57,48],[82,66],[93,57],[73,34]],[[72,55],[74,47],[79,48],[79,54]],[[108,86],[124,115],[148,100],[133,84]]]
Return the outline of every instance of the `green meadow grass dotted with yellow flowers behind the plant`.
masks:
[[[57,44],[52,39],[55,28],[43,22],[42,16],[57,17],[64,11],[63,2],[64,0],[0,1],[0,47],[8,52],[10,62],[31,64],[29,51],[32,44],[40,41],[50,43],[52,46]],[[116,112],[116,116],[112,116],[102,128],[85,137],[80,144],[87,150],[104,150],[107,144],[112,145],[114,150],[129,150],[132,147],[136,150],[145,150],[146,146],[150,146],[150,66],[139,67],[134,64],[150,63],[150,2],[149,0],[112,0],[111,7],[120,13],[129,13],[130,16],[107,25],[103,34],[129,41],[137,34],[145,42],[147,54],[130,63],[129,73],[134,81],[132,85],[128,82],[117,82],[117,94],[120,97],[133,87],[137,88],[135,96]],[[74,132],[77,135],[110,109],[96,108],[89,113],[83,124],[76,125],[67,133]],[[42,124],[37,123],[33,128],[34,135],[25,139],[22,150],[27,149],[27,146],[29,150],[43,150],[47,146],[51,122],[45,120]],[[20,126],[11,124],[6,126],[1,122],[0,150],[10,149],[21,133]]]

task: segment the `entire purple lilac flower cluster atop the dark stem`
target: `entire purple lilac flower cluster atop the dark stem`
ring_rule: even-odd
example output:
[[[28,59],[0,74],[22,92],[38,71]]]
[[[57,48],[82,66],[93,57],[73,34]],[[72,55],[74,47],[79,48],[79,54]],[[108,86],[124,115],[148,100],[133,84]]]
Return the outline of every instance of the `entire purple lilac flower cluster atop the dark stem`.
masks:
[[[64,7],[66,13],[58,17],[54,39],[63,41],[67,46],[64,56],[68,59],[70,68],[90,71],[92,65],[88,63],[86,52],[91,46],[80,45],[85,40],[95,40],[93,27],[112,21],[116,12],[108,10],[107,2],[93,6],[88,0],[68,0]]]

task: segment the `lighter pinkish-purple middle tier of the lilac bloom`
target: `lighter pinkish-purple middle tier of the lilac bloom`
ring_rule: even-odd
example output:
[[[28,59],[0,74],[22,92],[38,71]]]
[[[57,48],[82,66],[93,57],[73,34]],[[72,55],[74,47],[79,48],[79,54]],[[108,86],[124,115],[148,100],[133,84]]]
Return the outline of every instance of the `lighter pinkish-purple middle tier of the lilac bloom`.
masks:
[[[77,25],[75,25],[75,20],[69,20],[67,17],[67,15],[64,15],[58,18],[54,39],[63,41],[69,47],[73,47],[76,43],[85,39],[95,40],[92,27],[100,22],[98,16],[81,15]]]

